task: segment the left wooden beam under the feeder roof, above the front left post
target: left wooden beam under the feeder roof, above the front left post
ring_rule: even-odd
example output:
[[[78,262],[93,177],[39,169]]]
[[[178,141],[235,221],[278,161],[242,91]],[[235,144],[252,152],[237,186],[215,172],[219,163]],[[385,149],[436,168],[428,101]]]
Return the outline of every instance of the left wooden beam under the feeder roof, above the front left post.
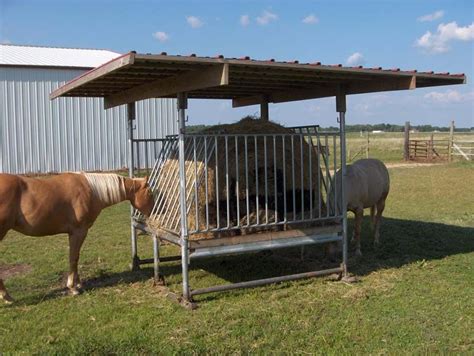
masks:
[[[229,84],[229,65],[217,64],[208,68],[186,72],[170,78],[155,80],[146,84],[106,96],[106,109],[131,102],[160,98],[177,93],[189,92],[198,89],[219,87]]]

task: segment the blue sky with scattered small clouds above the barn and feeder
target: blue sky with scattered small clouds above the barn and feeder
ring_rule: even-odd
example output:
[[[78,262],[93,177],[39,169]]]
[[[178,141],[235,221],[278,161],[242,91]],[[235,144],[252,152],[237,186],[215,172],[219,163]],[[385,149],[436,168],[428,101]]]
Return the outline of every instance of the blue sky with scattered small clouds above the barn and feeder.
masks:
[[[347,124],[474,127],[474,1],[0,0],[0,42],[465,73],[467,84],[352,95]],[[191,124],[258,114],[191,100]],[[334,98],[270,104],[287,125],[337,125]]]

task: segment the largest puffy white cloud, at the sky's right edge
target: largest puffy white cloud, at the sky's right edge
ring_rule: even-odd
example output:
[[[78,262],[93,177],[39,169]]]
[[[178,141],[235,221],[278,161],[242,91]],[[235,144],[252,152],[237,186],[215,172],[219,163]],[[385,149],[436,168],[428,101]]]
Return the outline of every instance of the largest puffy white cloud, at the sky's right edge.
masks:
[[[420,47],[428,53],[444,53],[451,48],[451,41],[472,41],[474,39],[474,22],[468,26],[459,27],[456,22],[440,24],[436,33],[426,32],[415,42],[416,47]]]

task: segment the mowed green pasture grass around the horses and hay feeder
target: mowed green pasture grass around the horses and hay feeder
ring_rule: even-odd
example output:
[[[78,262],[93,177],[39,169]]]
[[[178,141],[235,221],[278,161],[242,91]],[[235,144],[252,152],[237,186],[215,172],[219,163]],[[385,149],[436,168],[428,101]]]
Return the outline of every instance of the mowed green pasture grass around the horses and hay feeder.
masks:
[[[67,238],[10,232],[0,265],[32,270],[6,280],[17,302],[0,305],[0,353],[474,352],[474,168],[458,163],[391,169],[382,246],[364,221],[357,284],[315,278],[198,298],[185,310],[152,286],[151,268],[128,272],[128,206],[104,211],[84,244],[86,292],[61,295]],[[351,217],[352,218],[352,217]],[[350,220],[352,230],[352,219]],[[151,241],[140,238],[140,255]],[[165,247],[165,254],[176,252]],[[192,265],[204,287],[321,267],[321,248],[219,258]],[[163,273],[179,290],[179,264]]]

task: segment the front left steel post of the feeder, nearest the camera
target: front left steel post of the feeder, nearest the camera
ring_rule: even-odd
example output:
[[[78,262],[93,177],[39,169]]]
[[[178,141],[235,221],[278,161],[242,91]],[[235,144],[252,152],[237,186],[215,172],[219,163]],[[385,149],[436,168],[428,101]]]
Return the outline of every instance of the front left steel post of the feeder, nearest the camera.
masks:
[[[184,135],[186,133],[186,109],[188,100],[186,93],[178,94],[178,149],[179,149],[179,202],[181,214],[181,265],[183,274],[183,297],[190,301],[189,293],[189,248],[188,248],[188,220],[186,209],[186,165],[184,157]]]

